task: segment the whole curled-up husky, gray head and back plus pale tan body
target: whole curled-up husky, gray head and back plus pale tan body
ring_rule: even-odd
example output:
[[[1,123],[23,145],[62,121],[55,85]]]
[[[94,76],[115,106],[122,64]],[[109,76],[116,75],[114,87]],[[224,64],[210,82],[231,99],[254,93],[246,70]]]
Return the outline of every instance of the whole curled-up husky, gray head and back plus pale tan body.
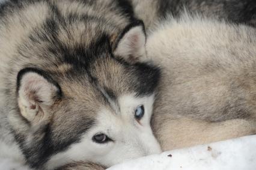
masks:
[[[102,169],[93,163],[159,153],[150,128],[159,69],[148,60],[163,71],[151,122],[163,150],[256,133],[255,29],[170,17],[148,37],[146,58],[143,23],[127,5],[1,6],[0,145],[10,148],[1,156]]]

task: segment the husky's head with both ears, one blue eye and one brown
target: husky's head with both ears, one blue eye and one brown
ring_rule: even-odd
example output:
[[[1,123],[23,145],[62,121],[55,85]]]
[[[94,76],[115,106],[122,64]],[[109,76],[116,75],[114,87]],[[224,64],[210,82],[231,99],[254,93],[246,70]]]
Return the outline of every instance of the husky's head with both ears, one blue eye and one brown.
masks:
[[[160,152],[150,127],[159,70],[139,62],[142,23],[92,47],[90,53],[66,50],[65,63],[53,72],[19,72],[17,100],[28,124],[20,143],[31,166],[53,169],[80,160],[111,166]],[[91,58],[73,62],[70,55]]]

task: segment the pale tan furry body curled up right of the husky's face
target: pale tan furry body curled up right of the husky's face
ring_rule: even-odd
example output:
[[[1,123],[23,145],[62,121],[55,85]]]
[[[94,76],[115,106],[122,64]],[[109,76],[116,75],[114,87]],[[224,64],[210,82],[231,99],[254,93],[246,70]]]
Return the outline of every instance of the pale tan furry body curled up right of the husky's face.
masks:
[[[256,133],[256,29],[184,14],[147,39],[162,68],[153,131],[163,150]]]

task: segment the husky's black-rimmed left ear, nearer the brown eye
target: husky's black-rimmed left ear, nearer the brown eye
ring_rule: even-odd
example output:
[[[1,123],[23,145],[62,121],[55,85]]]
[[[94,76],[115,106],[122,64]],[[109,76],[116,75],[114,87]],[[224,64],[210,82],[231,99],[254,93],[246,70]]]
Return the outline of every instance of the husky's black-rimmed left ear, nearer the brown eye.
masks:
[[[31,124],[50,117],[49,109],[61,96],[58,83],[41,70],[25,68],[17,76],[20,114]]]

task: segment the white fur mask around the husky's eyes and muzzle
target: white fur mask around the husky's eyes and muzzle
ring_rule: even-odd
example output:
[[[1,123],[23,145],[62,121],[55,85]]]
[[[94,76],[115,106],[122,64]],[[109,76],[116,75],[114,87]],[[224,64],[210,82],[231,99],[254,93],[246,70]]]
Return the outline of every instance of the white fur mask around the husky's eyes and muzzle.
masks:
[[[153,96],[122,96],[118,99],[120,109],[117,111],[100,108],[95,126],[82,135],[80,142],[71,145],[69,150],[53,156],[48,167],[52,168],[53,162],[66,163],[67,157],[111,166],[135,157],[160,153],[159,144],[150,127],[153,100]],[[135,118],[138,105],[145,108],[141,120]]]

